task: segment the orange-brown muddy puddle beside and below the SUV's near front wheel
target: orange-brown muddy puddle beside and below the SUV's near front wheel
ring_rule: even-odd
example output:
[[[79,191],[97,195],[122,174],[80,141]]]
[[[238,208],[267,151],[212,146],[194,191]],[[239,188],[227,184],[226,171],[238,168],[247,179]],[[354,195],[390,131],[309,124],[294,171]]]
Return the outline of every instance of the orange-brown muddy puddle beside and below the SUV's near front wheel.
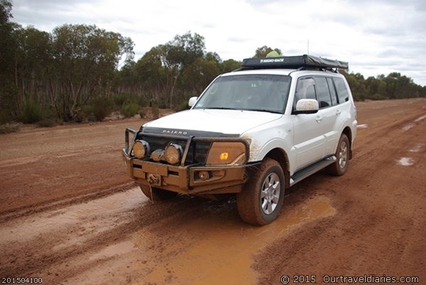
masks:
[[[173,284],[253,284],[254,254],[295,228],[335,213],[327,197],[317,196],[297,206],[285,206],[277,220],[263,227],[239,220],[223,220],[213,226],[203,219],[194,220],[185,224],[185,233],[198,233],[202,238],[173,256],[168,267],[155,267],[143,281],[161,284],[168,276]]]

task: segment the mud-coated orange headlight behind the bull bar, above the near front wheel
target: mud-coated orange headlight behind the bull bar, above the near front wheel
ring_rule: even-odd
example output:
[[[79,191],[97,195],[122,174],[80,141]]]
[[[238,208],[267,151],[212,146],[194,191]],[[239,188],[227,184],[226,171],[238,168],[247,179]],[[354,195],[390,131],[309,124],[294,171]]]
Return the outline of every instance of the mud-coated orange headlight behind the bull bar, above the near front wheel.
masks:
[[[240,142],[215,142],[210,147],[206,164],[241,165],[246,162],[246,146]]]

